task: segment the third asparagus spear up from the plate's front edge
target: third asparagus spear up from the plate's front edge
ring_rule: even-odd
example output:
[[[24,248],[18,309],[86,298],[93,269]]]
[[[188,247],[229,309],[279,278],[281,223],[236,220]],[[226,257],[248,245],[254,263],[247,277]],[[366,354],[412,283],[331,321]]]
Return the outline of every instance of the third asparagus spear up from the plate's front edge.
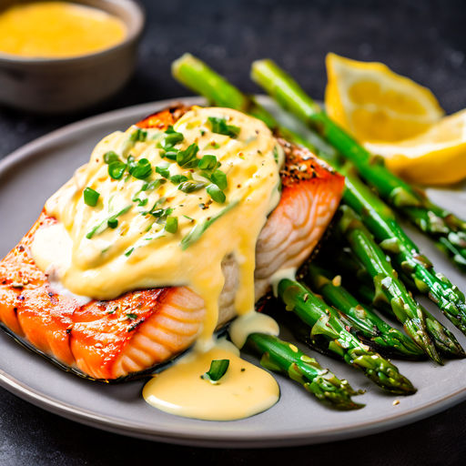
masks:
[[[349,325],[356,329],[363,339],[369,339],[380,350],[409,359],[419,359],[423,351],[399,329],[394,329],[387,322],[361,305],[341,284],[334,284],[329,270],[309,263],[306,278],[324,299],[337,311],[349,319]]]

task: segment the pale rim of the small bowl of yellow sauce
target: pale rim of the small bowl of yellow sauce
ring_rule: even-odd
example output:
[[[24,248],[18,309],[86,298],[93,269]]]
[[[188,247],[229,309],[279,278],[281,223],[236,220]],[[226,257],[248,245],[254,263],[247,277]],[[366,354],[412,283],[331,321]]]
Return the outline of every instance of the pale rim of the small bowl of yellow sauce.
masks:
[[[31,0],[31,2],[36,2],[40,0]],[[140,4],[139,0],[63,0],[66,3],[74,3],[89,6],[91,8],[97,8],[100,10],[108,12],[106,5],[114,4],[124,8],[129,15],[132,16],[134,21],[134,26],[129,30],[128,34],[123,38],[121,42],[118,42],[115,46],[110,46],[99,50],[97,52],[92,52],[85,55],[78,56],[67,56],[67,57],[31,57],[31,56],[15,56],[13,54],[5,54],[0,51],[0,65],[67,65],[67,64],[78,64],[80,62],[85,62],[87,60],[95,59],[96,57],[103,57],[109,54],[112,54],[116,50],[123,49],[129,44],[136,41],[139,36],[142,34],[144,26],[146,24],[146,12],[144,7]],[[110,13],[111,15],[115,15]],[[120,17],[120,16],[118,16]],[[127,25],[125,19],[120,19]]]

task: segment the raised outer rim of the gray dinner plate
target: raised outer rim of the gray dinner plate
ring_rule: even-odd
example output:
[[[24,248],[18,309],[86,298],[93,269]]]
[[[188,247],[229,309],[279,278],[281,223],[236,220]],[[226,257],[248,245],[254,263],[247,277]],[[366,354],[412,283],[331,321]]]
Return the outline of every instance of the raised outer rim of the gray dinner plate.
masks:
[[[267,96],[259,97],[261,100],[268,100]],[[42,146],[46,146],[49,143],[53,143],[56,137],[62,137],[69,133],[86,129],[86,127],[98,125],[101,122],[108,124],[112,120],[118,120],[120,118],[127,117],[128,115],[132,115],[133,113],[141,113],[144,115],[147,112],[147,115],[149,115],[158,109],[173,105],[176,102],[181,102],[187,105],[202,105],[205,104],[206,101],[198,96],[182,96],[145,104],[138,104],[136,106],[127,106],[93,117],[86,117],[85,119],[71,123],[65,127],[60,127],[42,137],[35,138],[24,146],[17,148],[14,152],[0,160],[0,174],[7,171],[10,167],[13,167],[15,164],[20,163],[24,158],[35,157],[34,153],[37,149]],[[302,429],[300,431],[262,432],[257,435],[251,435],[250,432],[247,434],[232,434],[231,432],[222,432],[221,430],[217,430],[215,433],[212,431],[196,431],[193,430],[192,427],[186,427],[183,429],[146,429],[138,426],[137,424],[132,424],[127,420],[120,420],[111,416],[96,414],[95,412],[83,408],[76,408],[65,401],[57,400],[45,393],[41,393],[40,391],[27,386],[25,383],[20,380],[16,380],[15,377],[7,374],[1,369],[0,386],[41,409],[48,410],[54,414],[65,417],[66,419],[74,420],[104,431],[111,431],[151,441],[165,441],[189,446],[215,448],[267,448],[270,446],[272,441],[274,447],[281,447],[351,439],[367,434],[388,431],[390,429],[427,418],[441,410],[446,410],[447,408],[460,403],[462,400],[466,400],[465,387],[463,389],[456,390],[440,400],[432,400],[424,406],[413,408],[408,411],[405,410],[398,414],[395,413],[384,420],[359,422],[358,424],[352,425],[350,428],[328,428],[317,433],[312,433],[312,436],[309,438],[309,432],[302,431]],[[208,423],[208,421],[202,422]]]

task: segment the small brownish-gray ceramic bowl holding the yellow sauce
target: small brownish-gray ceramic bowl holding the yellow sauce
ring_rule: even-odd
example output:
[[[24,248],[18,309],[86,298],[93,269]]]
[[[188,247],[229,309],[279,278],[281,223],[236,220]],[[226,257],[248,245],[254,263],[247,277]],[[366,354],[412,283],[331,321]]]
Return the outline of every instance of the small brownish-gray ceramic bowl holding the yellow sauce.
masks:
[[[144,12],[130,0],[72,0],[116,15],[127,25],[117,46],[70,58],[25,58],[0,53],[0,105],[38,113],[68,113],[115,94],[134,71]],[[16,3],[0,0],[0,11]]]

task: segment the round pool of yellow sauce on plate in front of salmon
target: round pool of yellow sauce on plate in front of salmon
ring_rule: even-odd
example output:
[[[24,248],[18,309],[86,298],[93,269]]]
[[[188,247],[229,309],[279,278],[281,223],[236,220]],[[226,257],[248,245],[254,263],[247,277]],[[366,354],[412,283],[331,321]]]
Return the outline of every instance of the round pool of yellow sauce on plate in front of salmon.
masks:
[[[226,374],[216,385],[200,378],[211,360],[229,360]],[[147,382],[143,396],[150,405],[178,416],[238,420],[273,406],[279,400],[279,385],[265,370],[241,360],[235,347],[215,346],[157,374]]]

